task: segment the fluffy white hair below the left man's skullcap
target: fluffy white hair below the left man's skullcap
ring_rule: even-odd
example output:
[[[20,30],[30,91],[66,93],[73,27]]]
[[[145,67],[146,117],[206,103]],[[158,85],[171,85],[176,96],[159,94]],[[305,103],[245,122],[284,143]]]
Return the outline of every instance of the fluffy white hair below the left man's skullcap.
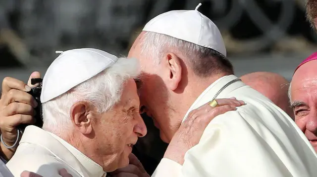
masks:
[[[138,60],[119,58],[111,67],[44,103],[43,129],[57,135],[69,129],[70,108],[79,101],[89,102],[99,113],[106,112],[120,101],[124,82],[139,73]]]

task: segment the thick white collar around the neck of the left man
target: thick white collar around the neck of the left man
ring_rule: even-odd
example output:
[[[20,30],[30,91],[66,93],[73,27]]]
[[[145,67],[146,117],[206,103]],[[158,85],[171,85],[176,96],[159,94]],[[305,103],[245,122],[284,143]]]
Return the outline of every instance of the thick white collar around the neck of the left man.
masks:
[[[53,133],[30,125],[25,128],[20,143],[23,142],[42,145],[83,177],[106,177],[103,167]]]

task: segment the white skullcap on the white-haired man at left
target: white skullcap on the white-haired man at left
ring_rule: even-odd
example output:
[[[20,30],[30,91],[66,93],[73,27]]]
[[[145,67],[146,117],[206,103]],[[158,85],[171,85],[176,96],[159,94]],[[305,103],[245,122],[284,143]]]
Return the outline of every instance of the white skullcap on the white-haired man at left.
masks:
[[[48,102],[112,66],[117,57],[105,51],[82,48],[61,53],[46,71],[41,102]],[[93,87],[93,85],[92,85]]]

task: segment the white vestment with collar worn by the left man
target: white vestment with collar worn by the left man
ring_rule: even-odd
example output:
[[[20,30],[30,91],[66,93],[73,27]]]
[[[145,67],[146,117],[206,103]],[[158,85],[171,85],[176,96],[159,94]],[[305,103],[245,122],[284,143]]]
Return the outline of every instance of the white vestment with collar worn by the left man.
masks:
[[[35,126],[26,127],[13,157],[6,164],[14,177],[23,171],[43,177],[59,177],[64,168],[73,177],[105,177],[103,168],[53,133]]]

